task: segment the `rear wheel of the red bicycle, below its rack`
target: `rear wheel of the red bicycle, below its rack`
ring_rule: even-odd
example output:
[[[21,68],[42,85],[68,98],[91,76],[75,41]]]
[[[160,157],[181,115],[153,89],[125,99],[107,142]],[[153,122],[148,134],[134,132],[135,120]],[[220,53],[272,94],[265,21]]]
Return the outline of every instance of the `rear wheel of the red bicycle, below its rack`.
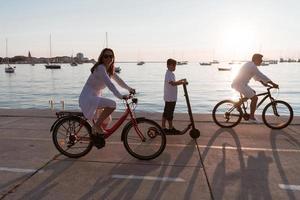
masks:
[[[65,117],[53,129],[52,139],[57,150],[70,158],[86,155],[93,147],[89,123],[80,117]]]

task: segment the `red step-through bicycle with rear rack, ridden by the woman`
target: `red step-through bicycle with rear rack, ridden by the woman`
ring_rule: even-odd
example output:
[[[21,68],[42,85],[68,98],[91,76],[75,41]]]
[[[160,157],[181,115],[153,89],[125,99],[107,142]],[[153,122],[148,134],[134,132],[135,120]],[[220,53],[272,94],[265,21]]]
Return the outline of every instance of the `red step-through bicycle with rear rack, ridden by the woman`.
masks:
[[[124,126],[121,140],[130,155],[140,160],[151,160],[159,156],[165,149],[166,136],[161,127],[153,120],[144,117],[136,118],[134,110],[138,99],[133,94],[124,100],[125,112],[112,125],[105,129],[103,137],[111,136],[130,116],[130,121]],[[55,147],[63,155],[70,158],[79,158],[92,149],[94,143],[91,138],[92,128],[82,112],[57,112],[57,120],[52,125],[52,139]],[[99,138],[101,139],[101,138]],[[104,146],[103,145],[103,146]]]

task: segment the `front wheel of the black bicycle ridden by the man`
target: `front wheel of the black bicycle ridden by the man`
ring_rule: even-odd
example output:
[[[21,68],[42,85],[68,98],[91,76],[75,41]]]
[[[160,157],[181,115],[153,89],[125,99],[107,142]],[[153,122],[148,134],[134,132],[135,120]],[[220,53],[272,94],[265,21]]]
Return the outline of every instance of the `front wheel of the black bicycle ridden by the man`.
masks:
[[[292,107],[280,100],[267,104],[262,113],[263,122],[272,129],[287,127],[293,120],[293,116]]]

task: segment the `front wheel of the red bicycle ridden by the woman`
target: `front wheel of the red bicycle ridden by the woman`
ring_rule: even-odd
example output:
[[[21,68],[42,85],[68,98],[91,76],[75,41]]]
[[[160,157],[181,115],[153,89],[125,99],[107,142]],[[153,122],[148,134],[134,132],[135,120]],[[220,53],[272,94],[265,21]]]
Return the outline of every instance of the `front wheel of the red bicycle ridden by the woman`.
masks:
[[[140,160],[156,158],[166,147],[166,135],[153,120],[137,118],[136,122],[136,125],[129,122],[123,130],[123,143],[126,150]]]

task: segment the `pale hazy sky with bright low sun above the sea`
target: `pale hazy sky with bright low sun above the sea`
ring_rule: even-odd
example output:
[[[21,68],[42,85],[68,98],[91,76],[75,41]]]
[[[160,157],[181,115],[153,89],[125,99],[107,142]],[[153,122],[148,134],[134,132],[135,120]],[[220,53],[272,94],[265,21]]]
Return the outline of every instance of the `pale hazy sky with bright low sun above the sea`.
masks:
[[[0,57],[300,58],[298,0],[0,0]]]

